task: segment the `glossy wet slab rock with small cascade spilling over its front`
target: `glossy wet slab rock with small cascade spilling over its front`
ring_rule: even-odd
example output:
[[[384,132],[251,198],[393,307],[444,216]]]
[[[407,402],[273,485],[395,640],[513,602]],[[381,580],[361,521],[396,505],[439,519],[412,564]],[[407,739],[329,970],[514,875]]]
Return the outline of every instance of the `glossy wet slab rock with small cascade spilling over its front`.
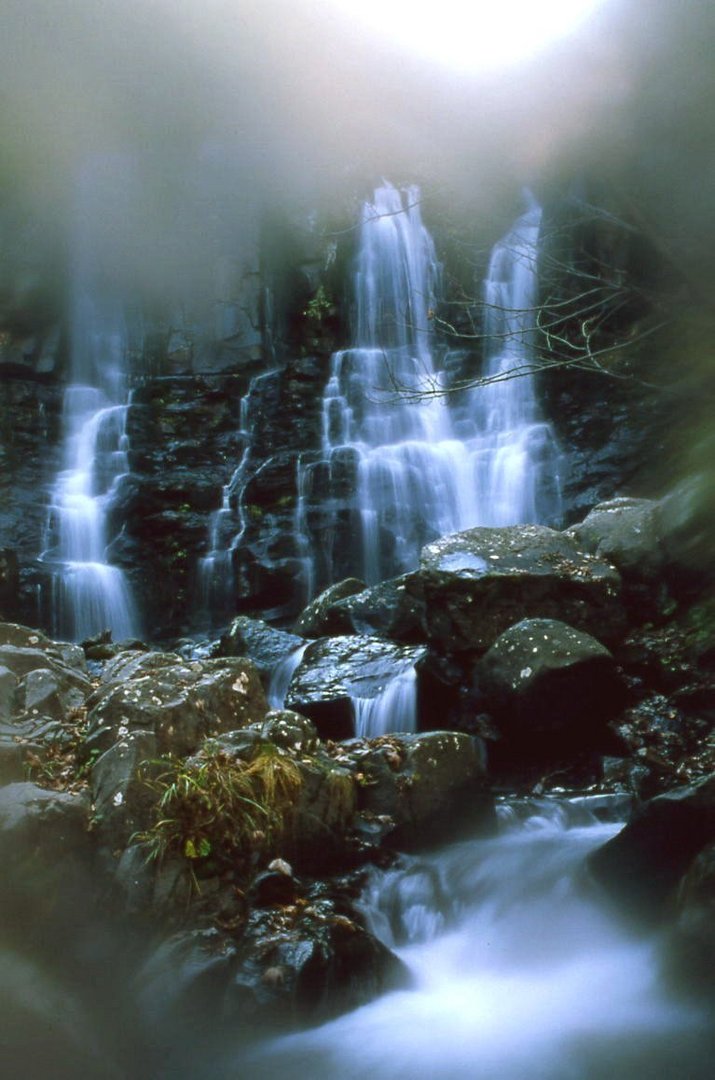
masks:
[[[383,700],[388,688],[408,675],[424,656],[422,647],[393,645],[376,637],[320,638],[306,649],[291,680],[285,704],[310,717],[323,738],[350,738],[361,703]],[[394,726],[387,730],[414,729],[414,712],[406,719],[400,705],[393,705],[396,707],[390,723]],[[386,707],[389,707],[387,702]]]

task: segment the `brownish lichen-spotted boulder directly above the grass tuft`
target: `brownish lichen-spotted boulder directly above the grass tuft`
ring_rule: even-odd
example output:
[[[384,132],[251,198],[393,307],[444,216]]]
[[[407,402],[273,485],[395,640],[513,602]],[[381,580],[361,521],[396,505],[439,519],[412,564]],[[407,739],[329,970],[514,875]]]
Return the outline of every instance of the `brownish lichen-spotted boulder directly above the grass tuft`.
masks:
[[[120,653],[87,701],[86,752],[148,730],[160,754],[193,753],[206,735],[262,719],[266,697],[249,660],[183,661],[175,653]]]

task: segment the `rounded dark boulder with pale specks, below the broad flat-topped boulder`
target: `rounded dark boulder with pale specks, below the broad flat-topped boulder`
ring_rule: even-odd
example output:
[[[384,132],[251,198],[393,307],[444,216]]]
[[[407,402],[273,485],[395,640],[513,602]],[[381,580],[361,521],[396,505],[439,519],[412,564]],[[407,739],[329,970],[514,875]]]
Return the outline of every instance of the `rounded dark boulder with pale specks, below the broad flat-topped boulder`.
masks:
[[[523,619],[504,631],[476,677],[502,737],[499,757],[591,750],[624,700],[608,649],[556,619]]]

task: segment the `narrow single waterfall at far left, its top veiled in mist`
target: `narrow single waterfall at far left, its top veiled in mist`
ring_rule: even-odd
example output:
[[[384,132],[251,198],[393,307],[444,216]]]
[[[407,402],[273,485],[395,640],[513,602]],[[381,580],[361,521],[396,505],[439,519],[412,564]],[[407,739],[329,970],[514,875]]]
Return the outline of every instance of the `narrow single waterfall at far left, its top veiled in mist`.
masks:
[[[53,633],[73,640],[103,630],[114,639],[137,633],[129,584],[107,561],[113,539],[108,514],[117,484],[129,471],[127,332],[93,231],[104,225],[122,163],[94,161],[79,183],[64,460],[50,496],[40,556],[51,570]]]

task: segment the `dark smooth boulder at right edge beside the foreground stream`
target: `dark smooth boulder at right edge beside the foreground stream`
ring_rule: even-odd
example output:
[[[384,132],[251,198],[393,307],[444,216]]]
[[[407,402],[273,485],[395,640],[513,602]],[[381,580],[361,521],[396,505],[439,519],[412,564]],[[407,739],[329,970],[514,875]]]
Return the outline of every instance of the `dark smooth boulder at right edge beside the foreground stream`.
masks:
[[[589,866],[625,912],[658,920],[696,855],[714,841],[715,774],[644,804]]]

